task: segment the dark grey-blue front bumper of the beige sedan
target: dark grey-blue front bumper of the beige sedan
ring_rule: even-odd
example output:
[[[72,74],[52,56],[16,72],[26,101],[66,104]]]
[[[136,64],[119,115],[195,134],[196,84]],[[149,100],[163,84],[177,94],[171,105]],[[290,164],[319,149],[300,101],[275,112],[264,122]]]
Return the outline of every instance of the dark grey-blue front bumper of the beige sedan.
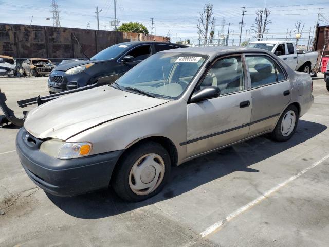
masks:
[[[57,196],[75,196],[107,188],[122,150],[72,160],[60,160],[39,151],[42,140],[24,128],[16,136],[16,150],[29,178]]]

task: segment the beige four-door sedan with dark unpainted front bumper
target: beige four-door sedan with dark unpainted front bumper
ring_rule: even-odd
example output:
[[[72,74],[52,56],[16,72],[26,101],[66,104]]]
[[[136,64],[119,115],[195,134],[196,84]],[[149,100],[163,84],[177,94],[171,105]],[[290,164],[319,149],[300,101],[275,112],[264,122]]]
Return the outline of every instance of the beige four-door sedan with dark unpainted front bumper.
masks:
[[[141,201],[161,191],[171,166],[266,133],[289,140],[312,90],[309,75],[266,50],[161,51],[111,85],[33,109],[16,150],[49,193],[111,185],[124,200]]]

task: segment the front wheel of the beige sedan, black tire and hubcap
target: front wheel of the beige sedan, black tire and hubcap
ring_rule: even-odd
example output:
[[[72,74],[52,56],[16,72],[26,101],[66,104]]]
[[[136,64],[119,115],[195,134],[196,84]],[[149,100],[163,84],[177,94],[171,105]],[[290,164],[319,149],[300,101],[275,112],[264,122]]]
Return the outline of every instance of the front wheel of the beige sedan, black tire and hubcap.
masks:
[[[153,197],[163,189],[171,169],[165,148],[158,143],[147,142],[123,155],[111,182],[119,197],[138,202]]]

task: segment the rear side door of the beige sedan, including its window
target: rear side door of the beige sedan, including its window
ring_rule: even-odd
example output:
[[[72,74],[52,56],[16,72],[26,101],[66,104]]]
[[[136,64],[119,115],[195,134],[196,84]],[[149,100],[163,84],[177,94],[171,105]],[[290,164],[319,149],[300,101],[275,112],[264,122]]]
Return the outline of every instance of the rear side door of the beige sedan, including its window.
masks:
[[[275,127],[280,113],[291,100],[291,84],[283,68],[267,55],[246,55],[252,114],[249,136]]]

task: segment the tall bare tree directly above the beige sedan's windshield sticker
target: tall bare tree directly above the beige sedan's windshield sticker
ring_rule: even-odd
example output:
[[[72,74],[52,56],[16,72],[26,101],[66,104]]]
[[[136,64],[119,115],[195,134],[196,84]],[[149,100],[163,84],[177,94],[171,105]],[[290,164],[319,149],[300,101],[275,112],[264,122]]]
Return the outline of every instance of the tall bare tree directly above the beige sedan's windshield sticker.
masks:
[[[200,17],[198,19],[197,29],[199,30],[200,39],[204,39],[205,44],[208,41],[208,30],[213,30],[213,24],[215,17],[213,16],[213,6],[212,4],[206,4],[204,6],[203,12],[200,12]]]

